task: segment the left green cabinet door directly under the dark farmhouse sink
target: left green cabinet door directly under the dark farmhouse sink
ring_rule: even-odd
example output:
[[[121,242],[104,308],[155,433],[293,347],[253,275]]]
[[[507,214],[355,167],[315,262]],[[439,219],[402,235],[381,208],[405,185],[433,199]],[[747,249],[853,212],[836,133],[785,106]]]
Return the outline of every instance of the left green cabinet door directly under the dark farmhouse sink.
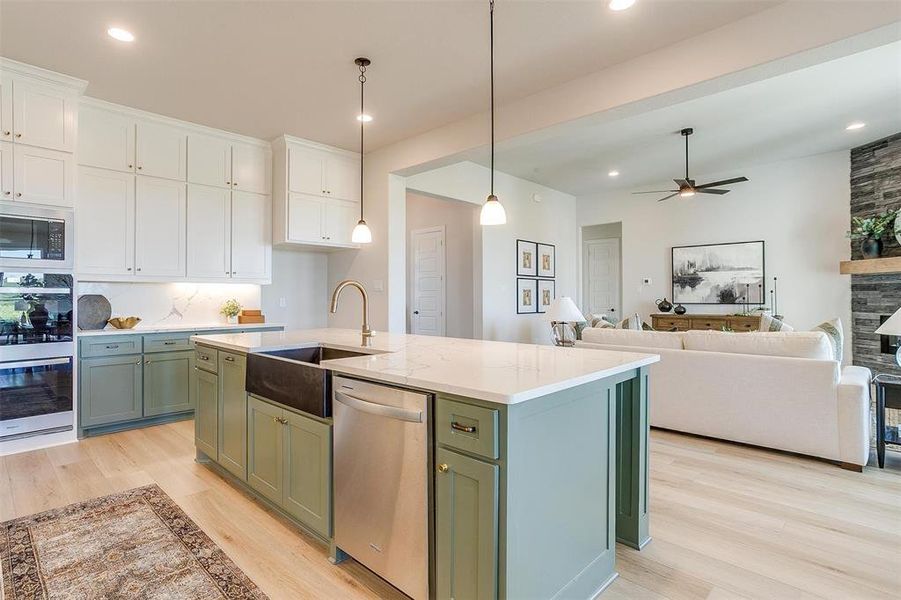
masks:
[[[247,483],[278,505],[283,496],[284,409],[253,396],[247,405]]]

